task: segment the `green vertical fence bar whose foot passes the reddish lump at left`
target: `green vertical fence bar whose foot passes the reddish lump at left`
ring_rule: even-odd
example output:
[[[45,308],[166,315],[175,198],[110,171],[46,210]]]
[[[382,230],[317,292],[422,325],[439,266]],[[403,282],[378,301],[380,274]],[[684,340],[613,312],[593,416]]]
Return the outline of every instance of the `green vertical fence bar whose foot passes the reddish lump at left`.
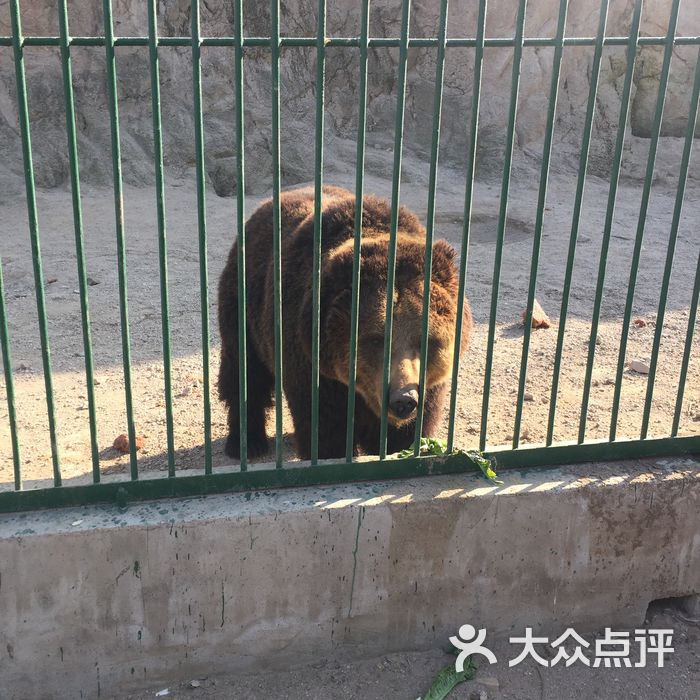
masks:
[[[122,191],[122,153],[119,135],[119,98],[117,93],[117,64],[114,53],[114,18],[112,0],[103,0],[105,51],[107,61],[107,95],[109,98],[109,125],[112,144],[112,179],[114,182],[114,219],[117,236],[117,276],[119,279],[119,316],[122,336],[122,364],[124,368],[124,394],[126,423],[129,436],[129,462],[131,479],[139,478],[136,459],[136,426],[134,404],[131,395],[131,339],[129,337],[129,307],[126,274],[126,242],[124,237],[124,196]]]

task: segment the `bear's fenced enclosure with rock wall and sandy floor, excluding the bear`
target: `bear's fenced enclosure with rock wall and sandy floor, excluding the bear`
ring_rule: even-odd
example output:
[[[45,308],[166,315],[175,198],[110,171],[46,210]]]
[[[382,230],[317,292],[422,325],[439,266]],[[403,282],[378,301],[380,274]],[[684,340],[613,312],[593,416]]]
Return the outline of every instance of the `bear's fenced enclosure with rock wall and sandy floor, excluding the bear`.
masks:
[[[472,469],[456,448],[485,451],[504,468],[700,452],[695,337],[700,190],[692,159],[700,11],[691,3],[669,0],[648,10],[642,0],[601,0],[581,3],[584,12],[567,0],[488,7],[480,0],[469,3],[464,22],[455,12],[464,3],[448,6],[441,0],[434,26],[425,18],[419,24],[433,33],[417,34],[417,10],[410,0],[372,5],[365,0],[355,14],[333,20],[342,28],[356,22],[356,32],[341,34],[329,30],[330,10],[320,0],[314,3],[312,35],[298,17],[293,27],[287,23],[292,30],[283,32],[290,18],[281,16],[279,0],[265,13],[237,0],[226,9],[230,33],[204,35],[203,8],[192,0],[186,4],[189,34],[163,35],[159,21],[167,20],[167,13],[149,0],[142,18],[147,33],[130,36],[115,34],[111,0],[102,7],[93,4],[102,31],[90,35],[71,33],[67,0],[55,12],[56,34],[25,35],[19,0],[10,0],[3,9],[8,17],[0,18],[0,30],[9,19],[9,33],[0,35],[0,75],[9,80],[10,72],[2,68],[11,66],[8,96],[16,119],[16,130],[3,128],[0,137],[21,149],[24,177],[23,193],[13,194],[8,185],[0,202],[0,341],[7,405],[6,415],[0,414],[0,510]],[[372,32],[375,4],[382,10],[374,17],[379,34]],[[660,18],[661,35],[651,31]],[[247,33],[247,21],[258,31],[267,29]],[[169,29],[183,26],[170,23]],[[42,61],[51,53],[60,62],[58,102],[45,86],[32,91],[35,51],[45,52]],[[83,60],[81,52],[90,52],[93,64],[99,60],[102,72],[81,64],[77,80],[74,66]],[[172,64],[169,52],[177,57]],[[221,52],[230,63],[207,64]],[[305,56],[305,62],[295,63],[293,56]],[[147,71],[134,70],[134,61],[142,61],[136,68]],[[252,62],[251,76],[246,66]],[[129,85],[119,77],[127,63]],[[203,65],[211,66],[204,77]],[[186,124],[175,119],[182,113],[167,107],[183,66],[191,89]],[[162,81],[166,68],[168,80]],[[217,71],[230,73],[228,121],[208,124],[207,100],[214,98],[206,78]],[[354,82],[344,90],[349,72]],[[139,76],[142,84],[133,87]],[[372,82],[377,79],[385,83],[377,87]],[[285,91],[295,80],[296,102],[288,103]],[[88,138],[97,127],[87,105],[99,103],[94,95],[102,94],[97,121],[108,130],[98,147]],[[41,107],[42,100],[49,107]],[[261,104],[269,123],[260,121]],[[5,102],[0,107],[7,111]],[[298,113],[292,114],[294,109]],[[65,183],[47,175],[53,171],[45,160],[59,147],[55,139],[44,138],[56,129],[44,110],[63,120]],[[173,117],[172,126],[164,110]],[[287,124],[289,141],[302,144],[290,158],[285,157],[293,149],[285,141]],[[207,126],[227,144],[215,163],[207,160],[218,148],[207,141]],[[533,139],[534,133],[541,138]],[[189,148],[183,146],[188,139],[193,144],[189,165],[177,161],[176,153]],[[137,146],[147,159],[135,155]],[[304,148],[307,162],[298,163]],[[87,185],[81,181],[86,163]],[[152,182],[138,180],[144,163]],[[14,166],[3,167],[12,171]],[[169,180],[176,168],[177,181]],[[260,171],[269,172],[269,179]],[[109,180],[111,193],[105,190]],[[316,211],[312,443],[310,463],[302,464],[289,448],[291,424],[282,391],[279,201],[283,187],[309,180]],[[67,190],[49,187],[57,184]],[[362,195],[370,191],[385,194],[393,212],[389,322],[377,359],[384,376],[377,454],[352,454],[362,285],[362,227],[356,225],[347,450],[344,460],[333,463],[318,459],[324,184],[355,191],[356,222]],[[246,216],[269,192],[275,212],[275,402],[269,417],[275,446],[260,464],[247,459],[242,391],[241,460],[232,464],[223,455],[225,418],[213,391],[218,337],[211,327],[210,278],[220,272],[234,237],[239,265],[244,264]],[[23,220],[17,201],[26,205]],[[421,454],[417,441],[412,456],[387,454],[401,204],[421,215],[428,254],[438,237],[458,250],[456,338],[467,297],[477,322],[467,357],[460,361],[455,351],[443,434],[431,436],[446,438],[444,455]],[[98,278],[92,276],[95,270]],[[29,275],[31,295],[23,292]],[[244,279],[239,274],[241,358],[249,342],[244,321],[255,313],[246,305]],[[430,284],[427,275],[426,299]],[[56,285],[63,292],[55,291]],[[549,313],[550,328],[533,329],[535,299]],[[427,310],[426,302],[417,437]],[[41,369],[29,359],[33,347],[40,347]],[[82,361],[80,370],[75,358]],[[58,371],[55,362],[61,363]],[[245,362],[239,372],[245,387]],[[144,432],[146,446],[138,454],[137,437]],[[120,433],[128,436],[124,457],[110,449]]]

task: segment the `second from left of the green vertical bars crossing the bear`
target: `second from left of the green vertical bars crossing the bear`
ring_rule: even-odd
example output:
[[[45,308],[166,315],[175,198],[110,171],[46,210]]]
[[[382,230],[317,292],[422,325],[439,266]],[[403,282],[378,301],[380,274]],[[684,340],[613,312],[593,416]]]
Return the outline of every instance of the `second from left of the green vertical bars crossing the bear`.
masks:
[[[282,228],[280,212],[280,0],[272,0],[272,249],[275,259],[275,462],[282,467]]]

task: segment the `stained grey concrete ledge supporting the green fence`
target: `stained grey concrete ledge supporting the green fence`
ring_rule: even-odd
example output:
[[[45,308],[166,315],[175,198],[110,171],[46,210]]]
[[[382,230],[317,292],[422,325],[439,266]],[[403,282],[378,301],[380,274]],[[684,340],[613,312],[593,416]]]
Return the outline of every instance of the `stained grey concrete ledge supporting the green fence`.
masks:
[[[700,592],[700,464],[653,460],[0,517],[3,698],[641,622]]]

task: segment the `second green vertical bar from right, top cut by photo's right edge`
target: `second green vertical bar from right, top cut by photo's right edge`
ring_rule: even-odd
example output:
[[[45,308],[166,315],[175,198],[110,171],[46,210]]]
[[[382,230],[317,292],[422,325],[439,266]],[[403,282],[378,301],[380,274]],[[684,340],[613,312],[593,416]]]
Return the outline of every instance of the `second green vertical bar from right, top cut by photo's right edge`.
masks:
[[[659,308],[656,313],[656,329],[654,330],[654,344],[651,351],[651,363],[649,364],[649,376],[647,378],[647,392],[644,399],[644,414],[642,416],[642,430],[640,438],[645,440],[649,432],[649,418],[651,415],[651,404],[654,397],[654,382],[656,381],[656,370],[659,362],[659,347],[661,346],[661,335],[664,328],[664,318],[666,316],[666,300],[668,299],[668,288],[671,284],[671,271],[673,270],[673,258],[676,252],[676,241],[678,240],[678,227],[683,211],[683,198],[685,196],[685,186],[688,181],[688,166],[690,165],[690,155],[693,150],[693,138],[695,136],[695,125],[698,118],[698,102],[700,101],[700,51],[695,64],[695,78],[693,80],[693,92],[690,98],[690,108],[688,111],[688,126],[685,131],[685,142],[683,144],[683,156],[681,157],[681,168],[678,175],[678,187],[676,189],[676,201],[673,207],[673,219],[671,221],[671,233],[668,237],[668,248],[666,250],[666,264],[664,266],[664,276],[661,282],[661,294],[659,296]],[[697,306],[697,302],[696,302]]]

